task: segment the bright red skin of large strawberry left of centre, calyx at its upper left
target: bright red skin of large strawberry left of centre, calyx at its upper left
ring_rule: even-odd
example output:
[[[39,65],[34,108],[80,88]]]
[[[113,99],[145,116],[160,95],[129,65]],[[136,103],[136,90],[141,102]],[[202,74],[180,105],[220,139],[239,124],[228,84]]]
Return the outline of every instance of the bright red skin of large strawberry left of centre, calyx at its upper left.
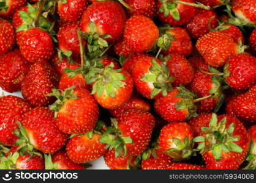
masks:
[[[80,134],[92,131],[99,117],[97,102],[84,88],[73,92],[78,99],[69,99],[58,112],[56,124],[66,134]],[[83,106],[83,107],[81,107]]]

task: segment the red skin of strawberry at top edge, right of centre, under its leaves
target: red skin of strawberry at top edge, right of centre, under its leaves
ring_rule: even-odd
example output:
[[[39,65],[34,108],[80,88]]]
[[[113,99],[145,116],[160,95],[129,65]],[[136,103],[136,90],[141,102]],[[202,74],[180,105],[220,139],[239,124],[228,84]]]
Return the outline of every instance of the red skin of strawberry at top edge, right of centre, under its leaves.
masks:
[[[173,0],[170,0],[173,1]],[[192,2],[195,3],[194,0],[183,0],[184,2]],[[159,9],[162,6],[162,2],[160,0],[157,0],[157,9]],[[187,23],[189,23],[190,20],[195,15],[195,7],[192,7],[191,5],[185,5],[185,4],[178,4],[176,9],[179,12],[180,20],[177,21],[171,16],[170,14],[168,16],[164,16],[164,12],[158,13],[158,16],[160,18],[160,21],[164,24],[170,24],[170,26],[182,26]]]

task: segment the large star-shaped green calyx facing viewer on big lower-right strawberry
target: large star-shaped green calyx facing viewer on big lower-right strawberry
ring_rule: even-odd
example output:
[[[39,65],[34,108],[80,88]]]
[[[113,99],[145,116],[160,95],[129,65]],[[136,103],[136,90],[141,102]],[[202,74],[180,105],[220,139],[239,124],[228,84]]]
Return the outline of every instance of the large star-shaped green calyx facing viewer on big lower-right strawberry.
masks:
[[[198,142],[197,151],[201,154],[212,151],[215,160],[221,160],[222,152],[243,152],[243,149],[235,143],[240,140],[238,135],[233,135],[235,124],[231,123],[226,127],[226,123],[226,117],[218,123],[217,115],[213,113],[209,127],[201,127],[205,135],[194,138],[194,142]]]

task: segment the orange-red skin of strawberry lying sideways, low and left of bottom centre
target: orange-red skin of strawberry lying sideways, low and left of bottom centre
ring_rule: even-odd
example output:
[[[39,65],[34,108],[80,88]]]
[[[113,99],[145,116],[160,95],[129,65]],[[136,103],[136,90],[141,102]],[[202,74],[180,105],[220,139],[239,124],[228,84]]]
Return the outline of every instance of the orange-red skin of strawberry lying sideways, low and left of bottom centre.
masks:
[[[67,156],[75,163],[86,163],[104,156],[107,152],[105,144],[99,142],[101,135],[93,134],[92,138],[85,135],[77,135],[70,138],[67,143]]]

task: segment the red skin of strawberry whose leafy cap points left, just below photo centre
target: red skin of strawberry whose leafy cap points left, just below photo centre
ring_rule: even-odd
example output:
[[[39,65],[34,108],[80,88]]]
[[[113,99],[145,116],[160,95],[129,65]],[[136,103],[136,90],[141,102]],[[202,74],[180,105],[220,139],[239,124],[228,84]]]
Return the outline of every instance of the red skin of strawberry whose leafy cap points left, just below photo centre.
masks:
[[[151,113],[138,110],[127,110],[116,117],[118,129],[123,137],[132,138],[132,143],[127,143],[127,154],[137,156],[145,151],[149,145],[155,120]]]

